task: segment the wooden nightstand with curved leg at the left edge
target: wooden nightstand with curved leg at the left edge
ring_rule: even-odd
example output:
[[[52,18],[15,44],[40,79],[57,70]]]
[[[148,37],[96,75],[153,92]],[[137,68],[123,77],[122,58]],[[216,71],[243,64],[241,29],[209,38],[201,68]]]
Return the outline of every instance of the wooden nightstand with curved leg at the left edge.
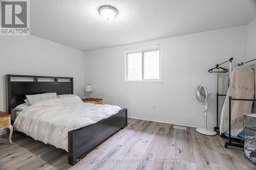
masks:
[[[11,114],[0,111],[0,129],[9,128],[9,141],[12,144],[12,131],[13,126],[11,125]]]

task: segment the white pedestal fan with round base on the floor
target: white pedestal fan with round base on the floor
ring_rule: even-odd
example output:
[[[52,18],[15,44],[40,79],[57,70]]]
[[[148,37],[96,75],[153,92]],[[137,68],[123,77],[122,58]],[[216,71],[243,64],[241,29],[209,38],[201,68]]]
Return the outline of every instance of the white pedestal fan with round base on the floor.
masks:
[[[202,84],[199,84],[196,88],[196,97],[199,102],[204,104],[204,108],[203,108],[204,128],[197,128],[196,131],[204,135],[214,136],[217,133],[213,130],[207,129],[208,96],[209,94],[206,87]]]

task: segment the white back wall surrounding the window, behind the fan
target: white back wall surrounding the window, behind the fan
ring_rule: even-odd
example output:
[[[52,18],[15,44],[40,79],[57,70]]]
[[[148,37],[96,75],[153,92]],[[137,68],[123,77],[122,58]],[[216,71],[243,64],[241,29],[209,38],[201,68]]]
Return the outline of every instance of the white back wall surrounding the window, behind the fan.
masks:
[[[208,69],[229,59],[246,59],[246,26],[220,29],[86,53],[86,82],[104,104],[127,108],[135,118],[202,127],[202,108],[195,98],[198,84],[213,92],[209,112],[216,115],[216,75]],[[124,52],[163,45],[163,83],[124,83]],[[156,109],[153,109],[156,105]],[[215,126],[212,116],[209,126]]]

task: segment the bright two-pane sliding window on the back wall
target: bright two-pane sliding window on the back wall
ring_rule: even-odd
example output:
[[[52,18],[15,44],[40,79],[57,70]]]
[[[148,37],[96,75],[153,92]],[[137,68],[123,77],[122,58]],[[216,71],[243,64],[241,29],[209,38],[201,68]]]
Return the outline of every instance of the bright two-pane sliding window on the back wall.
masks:
[[[125,82],[162,82],[161,48],[125,53]]]

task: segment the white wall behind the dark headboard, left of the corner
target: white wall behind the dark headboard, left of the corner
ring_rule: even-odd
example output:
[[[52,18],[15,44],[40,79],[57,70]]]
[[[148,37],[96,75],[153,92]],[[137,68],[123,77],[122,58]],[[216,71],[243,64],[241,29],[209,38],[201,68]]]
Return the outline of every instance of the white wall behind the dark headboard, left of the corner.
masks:
[[[35,36],[0,37],[0,110],[6,111],[6,74],[74,77],[83,97],[84,52]]]

